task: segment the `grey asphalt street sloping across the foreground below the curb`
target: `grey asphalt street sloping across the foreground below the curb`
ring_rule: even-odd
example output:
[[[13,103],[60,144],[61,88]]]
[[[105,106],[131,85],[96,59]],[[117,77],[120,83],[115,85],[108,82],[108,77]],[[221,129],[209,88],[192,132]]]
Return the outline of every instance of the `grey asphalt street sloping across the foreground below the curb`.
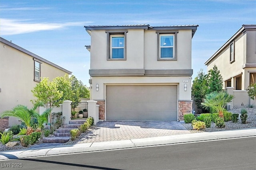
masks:
[[[3,160],[0,164],[1,170],[256,170],[256,137]]]

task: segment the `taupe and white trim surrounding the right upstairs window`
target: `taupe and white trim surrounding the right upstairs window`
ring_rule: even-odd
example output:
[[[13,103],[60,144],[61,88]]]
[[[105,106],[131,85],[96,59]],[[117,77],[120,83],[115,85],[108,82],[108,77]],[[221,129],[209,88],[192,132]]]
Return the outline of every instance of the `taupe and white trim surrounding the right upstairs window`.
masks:
[[[172,30],[172,31],[166,31],[166,30],[158,30],[157,33],[157,61],[177,61],[177,34],[178,31]],[[173,35],[173,58],[161,58],[160,54],[160,36],[161,35]]]

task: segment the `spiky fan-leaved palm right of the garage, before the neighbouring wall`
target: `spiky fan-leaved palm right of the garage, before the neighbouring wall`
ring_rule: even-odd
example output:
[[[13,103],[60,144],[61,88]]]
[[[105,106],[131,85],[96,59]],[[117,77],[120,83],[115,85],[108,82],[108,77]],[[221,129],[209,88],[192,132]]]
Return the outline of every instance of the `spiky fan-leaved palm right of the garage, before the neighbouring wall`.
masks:
[[[219,117],[224,117],[223,111],[227,106],[228,102],[231,102],[234,99],[233,95],[228,94],[227,92],[211,92],[206,94],[204,102],[201,104],[203,107],[208,107],[214,109],[217,113],[219,113]]]

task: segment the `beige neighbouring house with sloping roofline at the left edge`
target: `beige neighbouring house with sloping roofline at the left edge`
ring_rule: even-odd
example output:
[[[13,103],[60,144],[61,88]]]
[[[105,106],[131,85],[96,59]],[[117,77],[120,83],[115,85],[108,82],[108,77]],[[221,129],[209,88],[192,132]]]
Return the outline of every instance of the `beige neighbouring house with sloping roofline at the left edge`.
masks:
[[[40,77],[52,80],[72,72],[54,64],[14,43],[0,37],[0,113],[18,104],[31,108],[35,99],[31,90]],[[20,124],[15,117],[9,118],[9,126]]]

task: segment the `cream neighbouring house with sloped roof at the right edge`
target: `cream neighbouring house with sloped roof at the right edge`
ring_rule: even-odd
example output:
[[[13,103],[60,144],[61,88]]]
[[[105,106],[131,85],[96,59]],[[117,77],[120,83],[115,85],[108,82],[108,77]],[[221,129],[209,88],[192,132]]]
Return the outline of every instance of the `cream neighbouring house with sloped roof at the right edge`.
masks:
[[[255,104],[250,100],[246,88],[256,82],[256,25],[242,25],[208,61],[207,69],[214,64],[223,77],[223,89],[235,96],[233,106]],[[229,109],[229,108],[228,108]]]

